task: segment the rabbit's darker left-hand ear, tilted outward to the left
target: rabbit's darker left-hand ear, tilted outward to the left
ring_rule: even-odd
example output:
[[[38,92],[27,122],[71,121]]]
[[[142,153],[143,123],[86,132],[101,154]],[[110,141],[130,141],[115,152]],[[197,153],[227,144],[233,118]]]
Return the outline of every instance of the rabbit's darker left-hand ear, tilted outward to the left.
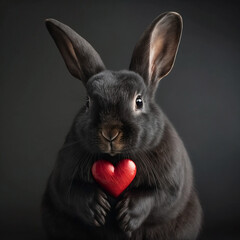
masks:
[[[55,19],[46,19],[46,26],[74,77],[86,84],[91,76],[105,69],[98,53],[70,27]]]

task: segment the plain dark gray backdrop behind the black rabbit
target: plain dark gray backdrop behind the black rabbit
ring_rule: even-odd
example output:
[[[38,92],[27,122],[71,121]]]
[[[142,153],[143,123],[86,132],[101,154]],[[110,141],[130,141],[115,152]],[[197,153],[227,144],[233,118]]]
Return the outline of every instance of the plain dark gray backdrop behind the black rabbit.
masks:
[[[85,99],[44,19],[70,25],[120,70],[147,25],[177,11],[182,42],[157,101],[192,160],[205,214],[200,239],[239,239],[239,10],[238,1],[0,1],[0,238],[43,239],[41,195]]]

